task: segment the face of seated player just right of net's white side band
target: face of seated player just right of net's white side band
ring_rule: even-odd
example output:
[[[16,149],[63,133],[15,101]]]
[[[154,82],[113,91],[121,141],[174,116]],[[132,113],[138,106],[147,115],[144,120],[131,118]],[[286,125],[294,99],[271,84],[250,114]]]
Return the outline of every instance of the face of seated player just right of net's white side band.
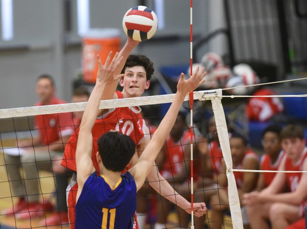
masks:
[[[239,165],[247,151],[244,141],[240,137],[232,137],[229,139],[232,162],[234,165]]]

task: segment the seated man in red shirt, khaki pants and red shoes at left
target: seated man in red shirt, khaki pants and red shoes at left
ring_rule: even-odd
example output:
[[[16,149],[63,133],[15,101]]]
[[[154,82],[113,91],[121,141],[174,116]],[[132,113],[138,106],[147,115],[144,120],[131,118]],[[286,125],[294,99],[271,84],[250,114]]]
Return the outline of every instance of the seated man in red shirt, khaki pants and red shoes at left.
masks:
[[[36,92],[40,101],[36,106],[62,104],[65,101],[55,97],[54,80],[50,75],[39,76]],[[39,170],[51,170],[51,161],[55,156],[62,156],[65,144],[73,133],[72,113],[58,113],[35,116],[35,127],[39,134],[28,140],[18,139],[18,148],[25,153],[12,156],[4,153],[7,176],[12,190],[12,196],[18,201],[12,208],[6,209],[2,214],[15,214],[17,219],[32,220],[44,216],[44,204],[40,202]],[[19,169],[22,168],[22,174]],[[57,190],[56,207],[57,218],[60,223],[68,224],[65,191],[59,181],[61,177],[54,175]],[[65,189],[64,189],[65,190]],[[46,208],[46,205],[45,205]],[[62,214],[64,212],[64,214]],[[61,214],[59,214],[61,213]],[[42,225],[46,224],[44,219]]]

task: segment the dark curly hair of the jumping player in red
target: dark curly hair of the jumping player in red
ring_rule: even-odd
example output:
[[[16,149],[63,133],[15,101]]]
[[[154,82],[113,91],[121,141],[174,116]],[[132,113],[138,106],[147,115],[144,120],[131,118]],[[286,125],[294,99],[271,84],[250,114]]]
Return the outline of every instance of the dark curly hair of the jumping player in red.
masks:
[[[154,69],[153,62],[145,55],[140,54],[130,54],[127,58],[127,61],[121,71],[122,74],[125,73],[126,68],[131,68],[134,66],[142,66],[146,71],[146,79],[150,80]]]

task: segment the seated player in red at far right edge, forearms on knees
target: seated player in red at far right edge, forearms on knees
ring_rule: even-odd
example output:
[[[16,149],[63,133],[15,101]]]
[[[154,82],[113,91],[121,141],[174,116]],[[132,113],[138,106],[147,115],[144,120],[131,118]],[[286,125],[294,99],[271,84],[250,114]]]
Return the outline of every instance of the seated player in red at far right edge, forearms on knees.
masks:
[[[307,148],[304,129],[288,125],[281,131],[285,157],[278,170],[306,171]],[[252,229],[286,229],[304,214],[307,197],[306,173],[277,173],[270,185],[260,192],[247,193],[244,201]],[[282,193],[287,187],[290,191]]]

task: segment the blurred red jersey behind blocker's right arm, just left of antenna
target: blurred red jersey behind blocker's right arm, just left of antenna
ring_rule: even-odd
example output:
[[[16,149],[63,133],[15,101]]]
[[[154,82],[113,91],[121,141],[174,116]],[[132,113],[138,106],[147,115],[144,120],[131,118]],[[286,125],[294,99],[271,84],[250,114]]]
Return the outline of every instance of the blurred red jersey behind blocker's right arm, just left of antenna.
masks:
[[[182,172],[184,155],[183,147],[191,141],[191,132],[186,130],[179,141],[175,142],[171,136],[166,139],[165,162],[162,167],[161,175],[170,178]]]

